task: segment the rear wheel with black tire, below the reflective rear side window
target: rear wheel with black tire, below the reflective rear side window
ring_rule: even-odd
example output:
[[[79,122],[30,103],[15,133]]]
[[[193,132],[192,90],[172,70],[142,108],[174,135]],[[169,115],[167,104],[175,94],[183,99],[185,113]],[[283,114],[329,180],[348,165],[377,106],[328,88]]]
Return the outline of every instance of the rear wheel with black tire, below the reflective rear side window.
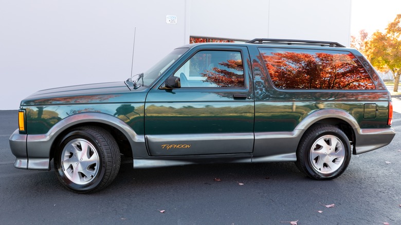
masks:
[[[295,164],[308,177],[330,180],[340,176],[350,160],[351,145],[347,135],[336,126],[317,124],[302,136]]]

